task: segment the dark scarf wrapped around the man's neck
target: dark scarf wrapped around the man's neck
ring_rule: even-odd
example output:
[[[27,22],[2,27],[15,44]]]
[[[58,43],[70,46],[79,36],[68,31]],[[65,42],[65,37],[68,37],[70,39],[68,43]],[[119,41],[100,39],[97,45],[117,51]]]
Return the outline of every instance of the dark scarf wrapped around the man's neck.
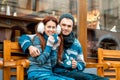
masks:
[[[75,39],[75,35],[71,32],[69,35],[63,35],[64,49],[71,47]]]

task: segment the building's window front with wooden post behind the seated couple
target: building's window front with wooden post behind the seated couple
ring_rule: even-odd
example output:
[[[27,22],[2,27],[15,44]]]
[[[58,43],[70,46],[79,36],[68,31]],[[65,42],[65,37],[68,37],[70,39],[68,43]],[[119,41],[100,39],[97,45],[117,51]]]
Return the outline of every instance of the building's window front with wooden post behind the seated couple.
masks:
[[[35,33],[46,15],[71,13],[86,62],[98,62],[98,48],[120,49],[119,0],[0,0],[0,55],[3,41]]]

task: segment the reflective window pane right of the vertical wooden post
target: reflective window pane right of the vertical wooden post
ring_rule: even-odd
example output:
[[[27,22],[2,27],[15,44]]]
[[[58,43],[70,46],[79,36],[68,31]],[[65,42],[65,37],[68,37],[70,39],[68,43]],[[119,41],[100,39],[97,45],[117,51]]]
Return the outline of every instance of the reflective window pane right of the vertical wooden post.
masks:
[[[87,0],[88,56],[97,57],[98,47],[120,49],[120,1]]]

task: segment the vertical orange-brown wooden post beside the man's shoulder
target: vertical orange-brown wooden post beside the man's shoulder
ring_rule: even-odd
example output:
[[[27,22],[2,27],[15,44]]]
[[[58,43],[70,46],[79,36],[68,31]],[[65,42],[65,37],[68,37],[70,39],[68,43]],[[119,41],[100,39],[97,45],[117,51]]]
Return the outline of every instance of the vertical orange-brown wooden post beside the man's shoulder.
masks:
[[[87,61],[87,1],[86,0],[79,0],[78,2],[78,39],[81,42],[83,54],[85,61]]]

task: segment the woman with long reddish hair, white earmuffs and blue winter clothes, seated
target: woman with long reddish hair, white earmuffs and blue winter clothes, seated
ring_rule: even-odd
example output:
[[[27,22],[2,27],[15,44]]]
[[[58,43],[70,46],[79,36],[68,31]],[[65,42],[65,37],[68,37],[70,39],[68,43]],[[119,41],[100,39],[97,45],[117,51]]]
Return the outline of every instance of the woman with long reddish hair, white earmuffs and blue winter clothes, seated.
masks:
[[[34,47],[39,54],[36,57],[29,56],[28,80],[73,80],[52,72],[52,67],[57,62],[57,48],[61,42],[57,34],[60,33],[60,27],[57,25],[56,18],[47,16],[37,25],[37,33],[32,41],[29,41],[26,35],[19,38],[19,43],[25,53],[29,53],[29,49]]]

